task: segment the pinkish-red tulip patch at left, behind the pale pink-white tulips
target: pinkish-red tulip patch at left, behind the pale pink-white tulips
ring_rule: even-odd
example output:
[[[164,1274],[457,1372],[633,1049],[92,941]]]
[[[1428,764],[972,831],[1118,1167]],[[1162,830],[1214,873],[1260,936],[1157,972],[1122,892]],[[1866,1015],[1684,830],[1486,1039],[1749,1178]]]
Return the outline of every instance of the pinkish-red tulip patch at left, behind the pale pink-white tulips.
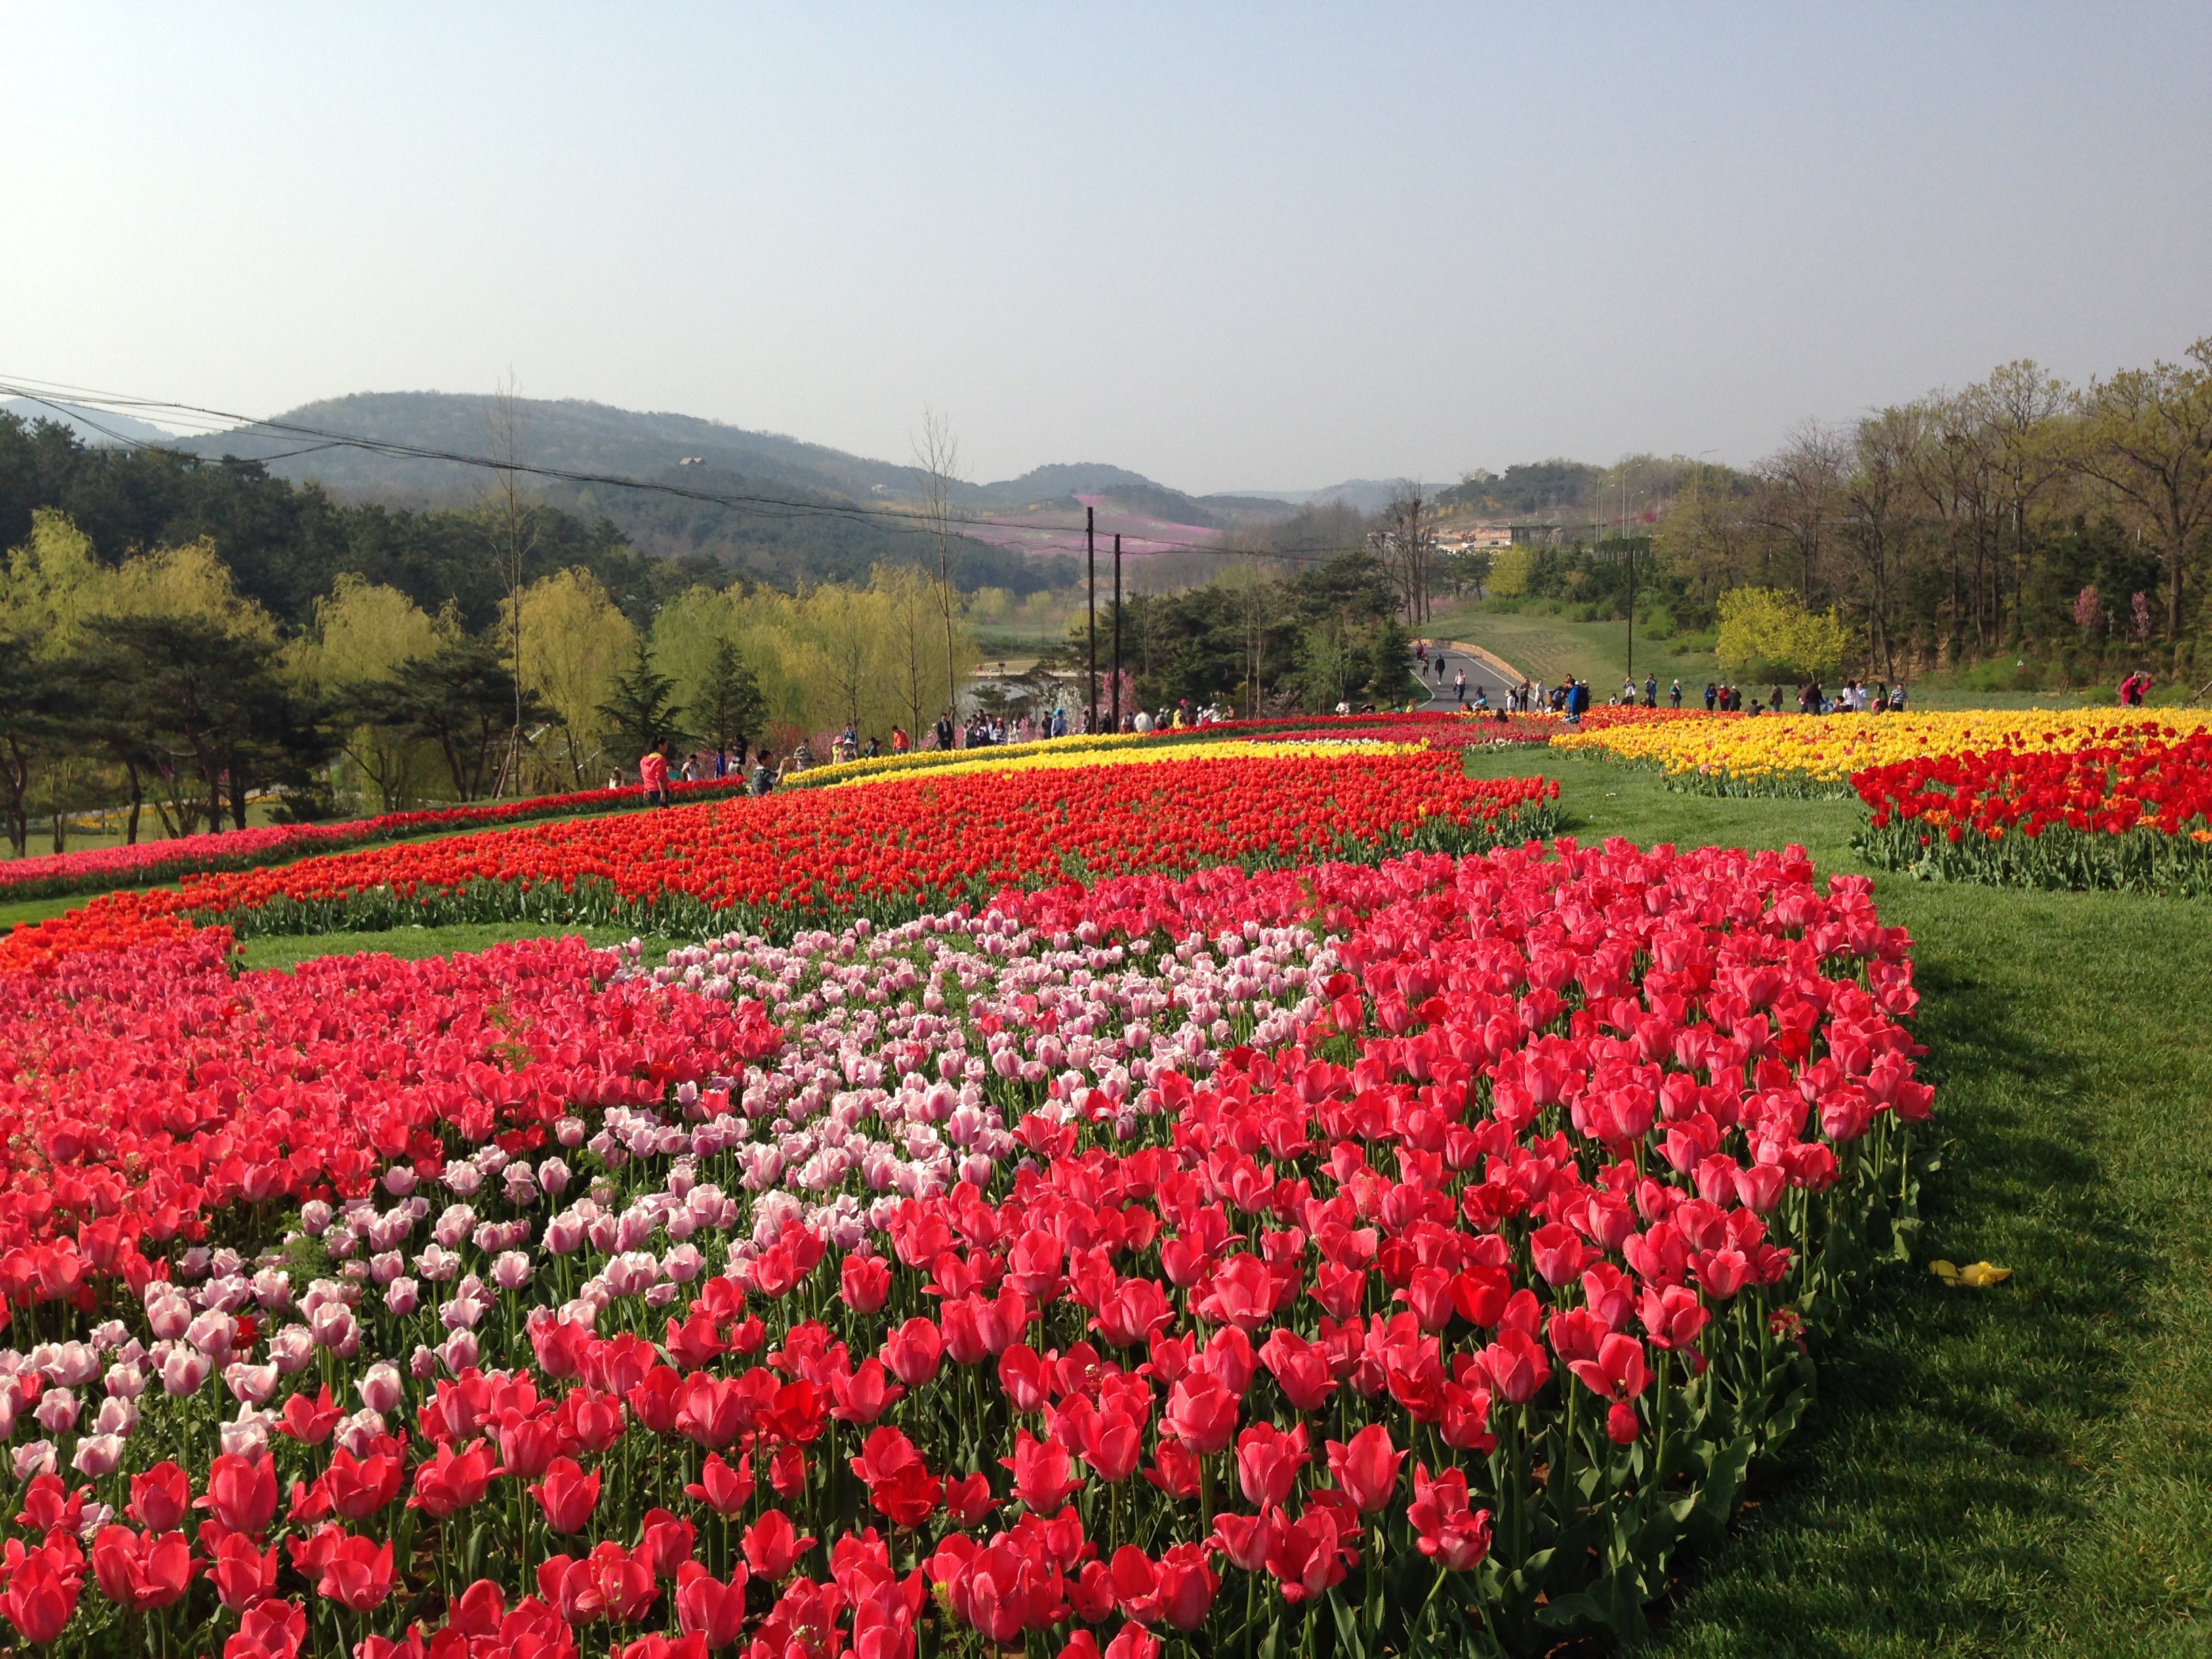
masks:
[[[208,929],[0,975],[0,1329],[137,1294],[228,1208],[361,1194],[447,1135],[535,1146],[779,1042],[759,1004],[608,987],[577,938],[241,975],[228,949]]]

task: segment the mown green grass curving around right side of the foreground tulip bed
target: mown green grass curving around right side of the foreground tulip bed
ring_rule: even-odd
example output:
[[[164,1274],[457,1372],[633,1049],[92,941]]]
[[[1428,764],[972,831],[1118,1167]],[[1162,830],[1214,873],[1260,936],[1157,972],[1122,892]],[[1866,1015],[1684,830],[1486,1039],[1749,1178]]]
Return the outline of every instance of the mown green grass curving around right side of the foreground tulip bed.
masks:
[[[1803,843],[1916,940],[1947,1137],[1924,1248],[1820,1349],[1787,1467],[1644,1652],[2212,1652],[2212,907],[1878,874],[1851,803],[1471,765],[1562,779],[1582,838]],[[1936,1256],[2013,1279],[1947,1290]]]

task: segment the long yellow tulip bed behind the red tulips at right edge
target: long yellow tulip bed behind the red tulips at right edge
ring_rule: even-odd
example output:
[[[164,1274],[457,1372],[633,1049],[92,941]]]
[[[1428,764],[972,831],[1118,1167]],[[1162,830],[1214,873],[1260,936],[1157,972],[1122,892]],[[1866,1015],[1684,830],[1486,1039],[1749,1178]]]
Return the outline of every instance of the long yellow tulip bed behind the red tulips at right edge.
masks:
[[[2212,726],[2208,710],[1995,710],[1909,714],[1761,714],[1725,721],[1657,721],[1562,732],[1562,750],[1597,750],[1648,761],[1670,779],[1741,787],[1843,785],[1854,772],[1889,761],[1969,750],[2079,750],[2099,743],[2170,737]]]

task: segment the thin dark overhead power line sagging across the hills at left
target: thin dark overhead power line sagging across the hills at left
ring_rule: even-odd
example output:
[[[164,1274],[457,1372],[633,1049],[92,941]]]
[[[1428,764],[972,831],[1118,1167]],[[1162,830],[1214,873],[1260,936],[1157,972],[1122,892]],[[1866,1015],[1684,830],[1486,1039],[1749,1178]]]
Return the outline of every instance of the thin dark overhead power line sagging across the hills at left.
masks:
[[[902,535],[933,535],[936,533],[933,526],[927,524],[927,522],[922,522],[918,513],[905,513],[905,511],[880,509],[880,507],[863,507],[858,502],[810,502],[810,500],[792,500],[792,498],[785,498],[785,495],[723,493],[723,491],[708,491],[708,489],[686,489],[684,484],[668,484],[668,482],[655,482],[655,480],[644,480],[644,478],[622,478],[617,473],[588,473],[588,471],[577,471],[577,469],[568,469],[568,467],[540,467],[540,465],[522,462],[522,460],[502,460],[498,456],[471,456],[471,453],[465,453],[465,451],[458,451],[458,449],[436,449],[431,445],[411,445],[411,442],[400,442],[396,438],[363,438],[358,434],[323,431],[319,427],[303,427],[303,425],[290,422],[290,420],[257,420],[252,416],[230,414],[226,409],[208,409],[208,407],[192,405],[192,403],[168,403],[168,400],[159,400],[159,398],[133,398],[133,396],[124,396],[124,394],[115,394],[115,392],[95,392],[91,387],[73,387],[73,385],[66,385],[66,383],[60,383],[60,380],[0,378],[0,392],[15,394],[15,396],[20,396],[20,398],[24,398],[29,403],[40,403],[40,405],[44,405],[49,409],[55,409],[58,414],[84,420],[84,425],[93,427],[95,431],[100,431],[106,438],[113,438],[115,442],[128,445],[133,449],[146,449],[146,451],[153,451],[153,453],[175,456],[177,460],[181,460],[186,465],[192,465],[192,467],[208,465],[210,460],[215,460],[215,465],[221,465],[223,460],[254,460],[259,465],[265,465],[270,460],[290,460],[294,456],[307,456],[307,453],[314,453],[319,449],[361,449],[365,453],[387,456],[392,460],[431,460],[431,462],[445,462],[445,465],[453,465],[453,467],[478,467],[478,469],[484,469],[484,471],[524,473],[529,478],[549,478],[549,480],[557,480],[557,482],[566,482],[566,484],[597,484],[597,487],[606,487],[606,489],[635,489],[635,491],[648,491],[648,493],[655,493],[655,495],[672,495],[677,500],[701,502],[701,504],[708,504],[708,507],[728,507],[732,511],[814,513],[814,515],[821,515],[821,518],[849,518],[849,520],[872,522],[872,524],[898,531]],[[223,458],[210,458],[210,456],[201,456],[199,451],[192,451],[192,449],[175,449],[170,445],[159,445],[159,442],[153,442],[153,440],[146,440],[146,438],[128,438],[124,434],[108,431],[106,427],[100,427],[95,420],[86,418],[80,409],[75,409],[75,405],[80,405],[80,403],[97,407],[97,409],[113,409],[113,411],[146,409],[146,411],[159,411],[159,414],[188,414],[188,416],[199,416],[201,420],[219,420],[219,422],[223,422],[221,427],[210,427],[206,434],[199,434],[199,436],[217,436],[221,431],[241,431],[241,429],[250,431],[250,429],[259,429],[259,431],[268,431],[268,434],[285,434],[290,438],[310,438],[312,442],[307,442],[301,449],[283,451],[283,453],[276,453],[276,456],[223,456]],[[254,436],[259,436],[259,434],[254,434]],[[1033,531],[1033,529],[1037,529],[1037,526],[1020,524],[1015,520],[1004,520],[1004,518],[947,515],[945,522],[949,522],[949,524],[964,524],[964,526],[973,526],[973,529],[993,529],[993,531]],[[1062,531],[1048,529],[1046,533],[1062,533]],[[1068,529],[1064,533],[1073,535],[1073,529]],[[984,546],[991,546],[991,542],[984,542],[984,538],[980,538],[980,535],[969,535],[969,538],[962,538],[962,540],[982,542]],[[1212,542],[1177,542],[1172,538],[1159,538],[1159,535],[1139,535],[1137,540],[1148,542],[1150,546],[1161,549],[1161,551],[1199,553],[1199,555],[1206,555],[1206,557],[1230,557],[1230,560],[1279,560],[1279,562],[1287,562],[1287,564],[1323,564],[1329,557],[1336,557],[1340,553],[1358,551],[1358,546],[1360,546],[1358,542],[1352,542],[1352,544],[1323,544],[1323,546],[1296,546],[1296,549],[1254,551],[1254,549],[1217,546]],[[1018,549],[1002,549],[1002,551],[1018,551]]]

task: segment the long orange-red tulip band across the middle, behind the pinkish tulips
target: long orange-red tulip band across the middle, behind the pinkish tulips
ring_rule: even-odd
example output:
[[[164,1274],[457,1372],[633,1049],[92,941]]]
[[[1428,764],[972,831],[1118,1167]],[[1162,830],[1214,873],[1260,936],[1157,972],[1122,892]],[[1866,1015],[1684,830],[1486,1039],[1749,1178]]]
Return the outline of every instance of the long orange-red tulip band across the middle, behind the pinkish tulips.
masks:
[[[1190,759],[1157,768],[927,774],[865,787],[546,823],[188,878],[0,940],[0,973],[173,918],[239,931],[420,920],[781,927],[914,914],[1066,874],[1327,856],[1347,845],[1493,845],[1542,834],[1557,783],[1475,781],[1458,757]]]

